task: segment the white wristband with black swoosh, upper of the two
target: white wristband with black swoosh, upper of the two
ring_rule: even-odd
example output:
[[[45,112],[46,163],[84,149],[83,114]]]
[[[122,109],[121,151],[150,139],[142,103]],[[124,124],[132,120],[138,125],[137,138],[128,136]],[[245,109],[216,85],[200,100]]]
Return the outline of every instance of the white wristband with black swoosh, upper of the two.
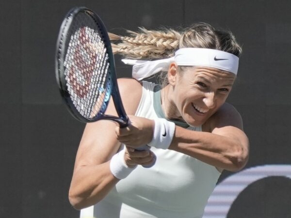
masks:
[[[147,145],[168,149],[175,133],[176,125],[173,122],[167,121],[163,118],[157,118],[155,121],[154,135],[151,142]]]

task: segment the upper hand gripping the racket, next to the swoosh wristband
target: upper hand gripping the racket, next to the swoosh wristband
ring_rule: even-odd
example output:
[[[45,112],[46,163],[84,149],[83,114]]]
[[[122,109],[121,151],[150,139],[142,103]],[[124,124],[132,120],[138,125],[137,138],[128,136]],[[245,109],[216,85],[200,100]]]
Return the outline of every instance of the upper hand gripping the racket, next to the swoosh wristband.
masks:
[[[153,138],[155,122],[143,117],[129,115],[131,124],[125,128],[115,128],[117,140],[132,148],[146,145]]]

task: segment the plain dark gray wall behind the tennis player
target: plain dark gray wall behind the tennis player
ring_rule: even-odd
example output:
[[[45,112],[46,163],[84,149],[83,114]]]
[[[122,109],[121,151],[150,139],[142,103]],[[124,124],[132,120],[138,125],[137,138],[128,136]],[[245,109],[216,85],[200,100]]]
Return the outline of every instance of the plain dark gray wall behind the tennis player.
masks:
[[[250,139],[246,168],[291,165],[290,1],[2,0],[1,218],[79,216],[67,194],[84,125],[66,111],[54,76],[56,37],[74,6],[93,9],[107,29],[117,33],[196,21],[230,29],[243,47],[228,102],[241,112]],[[116,66],[118,77],[130,76],[119,57]],[[232,174],[224,172],[221,180]],[[228,217],[291,218],[290,192],[290,179],[257,181],[241,193]]]

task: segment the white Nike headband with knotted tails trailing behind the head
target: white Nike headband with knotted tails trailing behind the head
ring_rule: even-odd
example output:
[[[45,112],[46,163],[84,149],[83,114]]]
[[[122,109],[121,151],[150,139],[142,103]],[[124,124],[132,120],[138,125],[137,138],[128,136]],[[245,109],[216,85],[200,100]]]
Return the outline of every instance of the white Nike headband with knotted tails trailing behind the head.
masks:
[[[132,77],[137,80],[147,78],[160,71],[168,71],[171,62],[178,66],[207,66],[238,73],[239,58],[225,51],[210,48],[180,48],[175,52],[175,57],[156,60],[141,61],[122,59],[125,64],[133,65]]]

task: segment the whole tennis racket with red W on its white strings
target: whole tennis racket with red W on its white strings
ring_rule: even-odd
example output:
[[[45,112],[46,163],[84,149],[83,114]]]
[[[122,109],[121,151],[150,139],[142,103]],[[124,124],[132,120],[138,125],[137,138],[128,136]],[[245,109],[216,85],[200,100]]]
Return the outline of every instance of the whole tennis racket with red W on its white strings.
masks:
[[[118,90],[111,42],[92,10],[75,7],[65,16],[57,39],[55,72],[65,105],[78,121],[103,119],[121,128],[130,125]],[[105,114],[111,96],[118,117]],[[137,150],[148,149],[145,145]]]

